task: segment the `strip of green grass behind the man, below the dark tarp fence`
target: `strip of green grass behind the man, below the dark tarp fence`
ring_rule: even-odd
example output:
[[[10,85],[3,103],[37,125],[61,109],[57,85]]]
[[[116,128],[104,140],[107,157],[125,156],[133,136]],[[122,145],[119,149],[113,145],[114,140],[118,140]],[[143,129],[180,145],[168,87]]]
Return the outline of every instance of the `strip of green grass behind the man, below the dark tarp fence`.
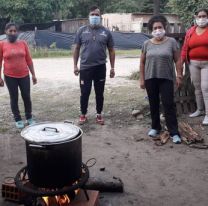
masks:
[[[56,58],[56,57],[71,57],[73,52],[68,49],[48,49],[48,48],[30,48],[33,58]],[[116,56],[138,57],[141,51],[133,50],[116,50]]]

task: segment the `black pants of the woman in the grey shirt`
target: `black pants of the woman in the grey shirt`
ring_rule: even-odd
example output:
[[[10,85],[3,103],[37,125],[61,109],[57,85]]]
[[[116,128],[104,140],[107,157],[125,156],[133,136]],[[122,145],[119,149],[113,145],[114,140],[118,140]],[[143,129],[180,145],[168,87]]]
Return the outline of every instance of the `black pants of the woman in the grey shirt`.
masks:
[[[178,133],[178,122],[174,104],[174,83],[167,79],[149,79],[145,81],[149,97],[152,129],[161,130],[160,125],[160,96],[165,113],[165,120],[170,135]]]

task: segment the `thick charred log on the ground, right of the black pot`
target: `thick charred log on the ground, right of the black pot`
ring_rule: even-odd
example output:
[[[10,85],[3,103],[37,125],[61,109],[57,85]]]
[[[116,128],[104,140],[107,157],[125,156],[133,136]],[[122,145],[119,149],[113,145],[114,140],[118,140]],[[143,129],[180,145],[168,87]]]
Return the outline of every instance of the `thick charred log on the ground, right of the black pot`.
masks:
[[[108,180],[90,177],[84,189],[98,190],[100,192],[123,192],[123,182],[117,177]]]

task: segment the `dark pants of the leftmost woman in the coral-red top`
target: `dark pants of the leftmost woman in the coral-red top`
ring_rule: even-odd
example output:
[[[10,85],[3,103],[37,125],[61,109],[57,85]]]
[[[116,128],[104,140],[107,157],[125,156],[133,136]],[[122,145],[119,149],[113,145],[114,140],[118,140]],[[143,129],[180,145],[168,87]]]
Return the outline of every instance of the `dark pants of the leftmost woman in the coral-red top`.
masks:
[[[5,76],[5,82],[9,90],[10,104],[15,121],[20,121],[21,116],[18,107],[18,87],[20,88],[22,99],[25,107],[25,117],[30,119],[32,117],[32,104],[30,98],[30,77],[13,78]]]

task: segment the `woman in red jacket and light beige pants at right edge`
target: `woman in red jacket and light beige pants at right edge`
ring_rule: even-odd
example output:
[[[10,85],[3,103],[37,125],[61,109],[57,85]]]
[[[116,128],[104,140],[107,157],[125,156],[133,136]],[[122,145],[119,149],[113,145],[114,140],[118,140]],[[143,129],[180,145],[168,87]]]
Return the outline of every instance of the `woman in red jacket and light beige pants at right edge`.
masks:
[[[204,114],[204,125],[208,125],[208,10],[195,13],[196,25],[185,37],[181,51],[182,63],[189,64],[191,80],[195,87],[197,110],[190,117]]]

